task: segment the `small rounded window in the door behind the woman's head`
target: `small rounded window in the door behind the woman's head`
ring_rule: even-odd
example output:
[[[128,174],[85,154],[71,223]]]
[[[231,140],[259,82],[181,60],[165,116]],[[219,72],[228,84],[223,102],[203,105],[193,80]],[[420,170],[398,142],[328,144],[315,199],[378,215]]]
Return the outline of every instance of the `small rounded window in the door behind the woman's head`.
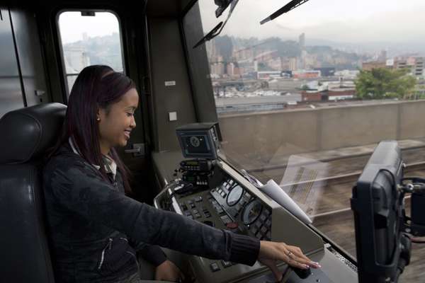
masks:
[[[79,72],[102,64],[124,71],[120,23],[107,11],[62,11],[58,16],[67,95]]]

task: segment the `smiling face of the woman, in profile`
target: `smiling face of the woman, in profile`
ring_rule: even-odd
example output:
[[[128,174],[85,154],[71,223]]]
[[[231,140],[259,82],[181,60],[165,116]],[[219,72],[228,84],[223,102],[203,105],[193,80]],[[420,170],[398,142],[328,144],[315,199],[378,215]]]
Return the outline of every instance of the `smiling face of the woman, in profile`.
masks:
[[[134,113],[139,103],[135,88],[125,93],[118,103],[98,111],[98,125],[102,154],[108,154],[114,146],[126,146],[130,132],[136,127]]]

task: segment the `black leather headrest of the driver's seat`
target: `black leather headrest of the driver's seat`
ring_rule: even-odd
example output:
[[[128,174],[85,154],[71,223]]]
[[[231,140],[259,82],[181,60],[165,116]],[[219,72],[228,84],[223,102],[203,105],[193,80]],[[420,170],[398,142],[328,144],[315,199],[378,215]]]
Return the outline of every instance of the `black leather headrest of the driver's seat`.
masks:
[[[0,164],[38,158],[60,138],[67,106],[47,103],[6,113],[0,119]]]

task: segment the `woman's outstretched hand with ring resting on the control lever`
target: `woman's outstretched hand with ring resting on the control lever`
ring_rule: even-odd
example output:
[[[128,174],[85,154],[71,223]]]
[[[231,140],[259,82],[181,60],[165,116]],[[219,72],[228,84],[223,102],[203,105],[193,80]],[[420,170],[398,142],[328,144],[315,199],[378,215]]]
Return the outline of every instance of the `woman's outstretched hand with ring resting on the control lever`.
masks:
[[[259,262],[270,268],[276,278],[276,282],[280,282],[283,276],[282,272],[280,272],[276,266],[276,262],[278,260],[286,262],[292,267],[304,270],[309,267],[321,267],[319,263],[312,262],[309,258],[307,258],[298,247],[288,246],[285,243],[261,241]]]

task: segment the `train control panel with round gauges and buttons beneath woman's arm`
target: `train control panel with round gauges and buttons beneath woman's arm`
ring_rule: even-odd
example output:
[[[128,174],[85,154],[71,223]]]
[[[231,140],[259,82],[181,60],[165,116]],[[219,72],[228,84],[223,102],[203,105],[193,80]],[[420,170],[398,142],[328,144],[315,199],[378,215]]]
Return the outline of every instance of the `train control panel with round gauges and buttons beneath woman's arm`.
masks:
[[[220,180],[210,183],[218,185],[208,187],[190,183],[186,189],[183,180],[174,180],[157,195],[155,206],[217,229],[227,229],[262,241],[281,241],[299,246],[318,262],[324,256],[331,255],[325,250],[322,238],[302,221],[260,192],[226,163],[217,162],[216,166],[219,166],[220,174],[215,174],[215,177],[220,176]],[[268,268],[259,262],[247,266],[198,256],[189,256],[188,260],[197,282],[274,282]],[[287,265],[280,263],[279,268],[286,270]],[[299,275],[290,272],[285,282],[338,281],[330,279],[322,270],[316,270],[306,279],[300,279]],[[346,282],[355,281],[348,279]]]

